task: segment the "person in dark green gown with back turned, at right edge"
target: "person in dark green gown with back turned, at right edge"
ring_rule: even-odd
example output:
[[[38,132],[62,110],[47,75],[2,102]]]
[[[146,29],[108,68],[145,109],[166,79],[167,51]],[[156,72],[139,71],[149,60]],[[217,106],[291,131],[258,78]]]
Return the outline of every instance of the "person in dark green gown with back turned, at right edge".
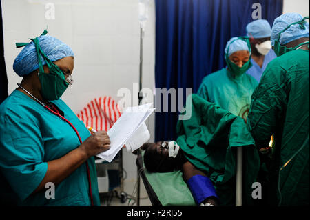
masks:
[[[309,206],[309,23],[296,13],[273,22],[277,54],[251,100],[247,125],[257,147],[275,146],[267,166],[265,201],[271,206]]]

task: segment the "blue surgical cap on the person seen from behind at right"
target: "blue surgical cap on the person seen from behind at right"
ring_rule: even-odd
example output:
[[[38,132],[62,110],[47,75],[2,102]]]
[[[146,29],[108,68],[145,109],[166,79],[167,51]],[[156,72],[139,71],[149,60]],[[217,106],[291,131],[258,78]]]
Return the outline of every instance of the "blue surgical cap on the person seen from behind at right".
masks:
[[[282,14],[277,17],[272,26],[271,30],[271,45],[274,46],[274,41],[278,39],[278,34],[287,28],[291,23],[296,21],[301,21],[303,17],[297,13],[287,13]],[[280,44],[284,45],[291,41],[300,39],[302,37],[309,37],[309,23],[304,23],[305,29],[300,28],[300,25],[293,24],[285,32],[282,32],[280,35]]]

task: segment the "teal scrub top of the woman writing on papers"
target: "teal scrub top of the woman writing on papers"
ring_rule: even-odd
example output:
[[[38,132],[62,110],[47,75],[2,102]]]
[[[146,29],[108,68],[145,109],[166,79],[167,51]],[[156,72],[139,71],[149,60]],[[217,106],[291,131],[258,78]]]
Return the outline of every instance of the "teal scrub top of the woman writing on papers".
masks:
[[[52,101],[78,130],[82,141],[90,136],[82,121],[61,100]],[[41,104],[14,90],[0,106],[0,179],[2,199],[18,206],[90,206],[86,163],[55,186],[55,198],[46,190],[32,192],[48,169],[48,161],[59,159],[80,146],[72,127]],[[94,206],[100,206],[94,157],[90,168]]]

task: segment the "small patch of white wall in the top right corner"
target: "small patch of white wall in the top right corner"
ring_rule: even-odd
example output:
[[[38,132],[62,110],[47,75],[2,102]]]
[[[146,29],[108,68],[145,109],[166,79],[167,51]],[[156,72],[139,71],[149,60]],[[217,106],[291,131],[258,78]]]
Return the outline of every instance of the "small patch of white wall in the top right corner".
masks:
[[[309,16],[309,0],[283,0],[283,13],[298,13],[302,17]]]

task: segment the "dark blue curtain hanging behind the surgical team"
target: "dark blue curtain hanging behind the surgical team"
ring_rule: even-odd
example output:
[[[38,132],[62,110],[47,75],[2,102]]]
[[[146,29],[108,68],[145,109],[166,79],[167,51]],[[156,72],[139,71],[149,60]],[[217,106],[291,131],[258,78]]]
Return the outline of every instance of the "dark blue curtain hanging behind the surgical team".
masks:
[[[197,92],[203,77],[225,66],[227,41],[246,34],[254,3],[271,26],[282,14],[282,0],[156,0],[156,88]],[[185,103],[185,91],[183,96]],[[155,141],[176,139],[178,112],[170,107],[156,109]]]

